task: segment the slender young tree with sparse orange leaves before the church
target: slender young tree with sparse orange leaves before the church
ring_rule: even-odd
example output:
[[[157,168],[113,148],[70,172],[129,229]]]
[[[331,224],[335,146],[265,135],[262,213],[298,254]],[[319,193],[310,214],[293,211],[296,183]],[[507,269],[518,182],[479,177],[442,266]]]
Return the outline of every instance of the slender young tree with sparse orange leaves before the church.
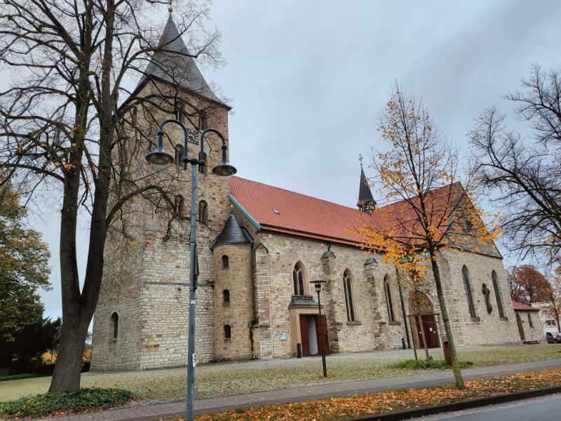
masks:
[[[432,278],[445,327],[456,386],[464,388],[450,317],[442,292],[439,255],[445,249],[478,250],[491,241],[469,195],[459,183],[458,155],[442,136],[423,102],[398,85],[379,117],[387,152],[375,152],[372,168],[390,205],[374,210],[358,234],[365,250],[381,253],[414,283]],[[429,272],[431,276],[428,276]]]

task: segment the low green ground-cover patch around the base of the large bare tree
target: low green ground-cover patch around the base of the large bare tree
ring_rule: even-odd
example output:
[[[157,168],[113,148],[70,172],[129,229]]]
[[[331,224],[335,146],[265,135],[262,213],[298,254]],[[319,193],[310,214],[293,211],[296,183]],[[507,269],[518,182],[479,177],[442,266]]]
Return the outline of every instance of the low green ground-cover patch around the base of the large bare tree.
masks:
[[[123,389],[80,389],[64,393],[46,393],[27,396],[15,401],[0,402],[0,416],[41,417],[102,410],[138,399],[133,392]]]

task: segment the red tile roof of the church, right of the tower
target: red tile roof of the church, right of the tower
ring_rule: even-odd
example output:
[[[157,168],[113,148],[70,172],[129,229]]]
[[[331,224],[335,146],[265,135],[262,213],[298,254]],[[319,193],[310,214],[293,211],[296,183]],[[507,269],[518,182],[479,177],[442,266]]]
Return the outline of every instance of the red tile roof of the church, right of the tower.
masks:
[[[455,194],[456,185],[450,188],[434,190],[433,202],[442,203]],[[407,221],[413,224],[416,220],[413,208],[403,201],[368,215],[358,209],[238,177],[231,178],[230,194],[262,229],[353,245],[360,243],[353,229],[365,223],[375,229],[403,225]]]

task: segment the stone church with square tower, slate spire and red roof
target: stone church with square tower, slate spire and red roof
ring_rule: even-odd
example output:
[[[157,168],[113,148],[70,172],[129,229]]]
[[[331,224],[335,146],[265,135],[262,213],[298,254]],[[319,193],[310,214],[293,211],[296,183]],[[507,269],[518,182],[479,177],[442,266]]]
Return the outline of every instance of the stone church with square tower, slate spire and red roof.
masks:
[[[169,51],[186,50],[171,15],[161,43]],[[168,55],[154,55],[159,65],[150,63],[134,94],[179,88],[180,112],[175,116],[194,130],[216,128],[228,147],[236,148],[241,140],[230,142],[230,108],[212,93],[193,59]],[[162,66],[168,72],[162,72]],[[175,78],[173,72],[187,77]],[[181,113],[187,108],[198,111],[183,119]],[[144,121],[136,109],[132,113],[147,133],[155,133],[159,122],[172,117],[161,113],[159,121]],[[180,139],[181,133],[174,130],[169,129],[170,137]],[[211,137],[207,141],[206,167],[212,168],[220,161],[221,143]],[[193,149],[198,152],[196,142]],[[178,168],[183,146],[177,144],[166,145],[179,156],[177,166],[161,173],[170,174],[169,183],[178,192],[174,203],[180,208],[183,198],[189,198],[191,178],[189,171]],[[147,171],[144,154],[138,159],[139,168],[145,166]],[[318,354],[320,347],[340,353],[397,349],[404,344],[419,347],[424,341],[428,347],[442,345],[435,293],[412,301],[411,291],[398,283],[396,267],[381,263],[380,255],[363,253],[351,234],[377,206],[362,168],[360,177],[357,171],[359,182],[358,208],[351,208],[243,178],[219,180],[205,168],[198,173],[196,356],[200,363],[308,356]],[[125,219],[135,230],[135,239],[119,232],[108,234],[91,368],[184,366],[189,225],[178,222],[176,234],[170,235],[162,215],[137,203],[128,206]],[[439,265],[457,345],[518,338],[503,260],[494,244],[478,253],[442,253]],[[318,298],[310,283],[318,279],[325,281],[320,291],[325,342],[318,340]]]

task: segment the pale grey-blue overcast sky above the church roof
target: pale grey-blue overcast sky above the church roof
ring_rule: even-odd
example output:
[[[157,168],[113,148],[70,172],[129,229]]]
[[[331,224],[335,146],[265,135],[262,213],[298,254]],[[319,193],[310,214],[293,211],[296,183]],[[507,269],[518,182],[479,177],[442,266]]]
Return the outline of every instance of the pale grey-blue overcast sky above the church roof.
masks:
[[[532,62],[561,69],[560,15],[553,0],[215,1],[228,64],[203,74],[233,99],[239,176],[354,207],[358,155],[384,147],[375,128],[394,81],[465,149],[473,119],[489,105],[507,110],[501,95]],[[62,314],[59,216],[32,221],[53,253],[47,316]]]

